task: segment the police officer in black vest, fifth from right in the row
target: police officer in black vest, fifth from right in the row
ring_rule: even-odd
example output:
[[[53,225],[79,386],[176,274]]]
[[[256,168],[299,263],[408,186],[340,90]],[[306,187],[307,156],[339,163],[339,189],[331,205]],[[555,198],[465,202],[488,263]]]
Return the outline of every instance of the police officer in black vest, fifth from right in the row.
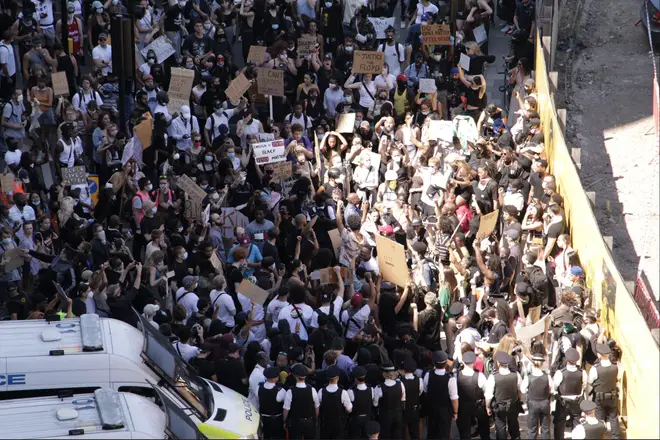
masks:
[[[486,416],[484,391],[486,376],[474,371],[472,366],[477,360],[473,351],[463,353],[463,369],[458,373],[456,385],[458,388],[458,434],[460,438],[470,438],[472,419],[476,417],[479,438],[490,440],[490,423]]]

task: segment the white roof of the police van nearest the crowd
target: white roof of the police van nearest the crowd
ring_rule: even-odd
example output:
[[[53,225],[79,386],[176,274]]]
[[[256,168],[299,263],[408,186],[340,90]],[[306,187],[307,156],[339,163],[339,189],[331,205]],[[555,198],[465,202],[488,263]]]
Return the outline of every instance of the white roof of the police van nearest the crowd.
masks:
[[[126,323],[99,319],[97,315],[53,322],[3,321],[0,323],[0,358],[116,353],[127,349],[120,346],[121,341],[130,341],[139,333]],[[119,342],[114,344],[114,349],[113,338]],[[134,353],[127,357],[139,360],[140,347],[130,351]]]

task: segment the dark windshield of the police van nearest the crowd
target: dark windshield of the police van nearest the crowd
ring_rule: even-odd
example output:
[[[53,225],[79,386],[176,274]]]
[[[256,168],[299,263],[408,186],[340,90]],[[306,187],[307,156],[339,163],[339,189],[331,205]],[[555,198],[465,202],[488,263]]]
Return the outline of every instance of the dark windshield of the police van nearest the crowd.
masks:
[[[147,365],[197,413],[200,420],[208,420],[213,414],[213,391],[209,384],[148,321],[142,321],[142,333],[145,341],[142,358]]]

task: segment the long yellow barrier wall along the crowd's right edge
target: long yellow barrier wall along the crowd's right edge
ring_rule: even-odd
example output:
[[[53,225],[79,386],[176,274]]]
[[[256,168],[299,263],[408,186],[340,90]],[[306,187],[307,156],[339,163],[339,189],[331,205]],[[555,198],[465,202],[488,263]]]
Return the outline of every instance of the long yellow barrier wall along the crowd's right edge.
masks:
[[[550,98],[548,70],[540,38],[536,41],[536,88],[550,171],[564,198],[573,248],[608,335],[623,352],[621,415],[628,438],[660,438],[658,346],[600,234],[591,204],[573,165],[557,111]]]

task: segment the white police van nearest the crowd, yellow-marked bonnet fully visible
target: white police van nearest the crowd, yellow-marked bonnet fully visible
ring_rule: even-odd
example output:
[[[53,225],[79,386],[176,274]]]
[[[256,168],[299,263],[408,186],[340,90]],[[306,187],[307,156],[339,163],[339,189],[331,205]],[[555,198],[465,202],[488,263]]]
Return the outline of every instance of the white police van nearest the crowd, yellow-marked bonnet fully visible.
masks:
[[[156,400],[151,382],[208,438],[258,438],[256,408],[239,393],[200,377],[138,316],[142,331],[97,315],[1,322],[0,399],[108,388]]]

